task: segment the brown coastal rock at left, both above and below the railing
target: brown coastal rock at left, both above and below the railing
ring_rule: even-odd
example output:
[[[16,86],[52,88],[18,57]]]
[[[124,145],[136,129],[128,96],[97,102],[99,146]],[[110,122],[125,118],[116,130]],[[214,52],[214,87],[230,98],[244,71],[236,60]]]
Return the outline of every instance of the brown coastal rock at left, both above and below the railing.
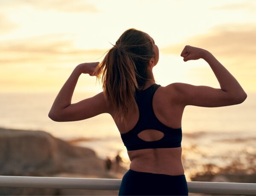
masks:
[[[121,167],[124,174],[126,169]],[[65,173],[65,174],[64,174]],[[0,128],[0,175],[2,176],[63,176],[120,179],[105,170],[105,160],[86,147],[69,144],[44,131]],[[64,175],[61,175],[64,174]],[[95,190],[96,191],[96,190]],[[44,188],[1,187],[0,195],[97,195],[93,190],[59,190]],[[113,195],[117,191],[100,191]]]

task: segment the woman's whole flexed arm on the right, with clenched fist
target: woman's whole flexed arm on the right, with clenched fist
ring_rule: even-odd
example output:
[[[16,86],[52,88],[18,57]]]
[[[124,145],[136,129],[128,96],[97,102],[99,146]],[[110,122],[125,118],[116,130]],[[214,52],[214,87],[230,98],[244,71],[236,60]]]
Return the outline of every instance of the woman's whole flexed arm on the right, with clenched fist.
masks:
[[[247,94],[240,86],[236,78],[207,50],[193,46],[185,46],[181,56],[184,61],[203,58],[214,72],[220,89],[210,86],[195,86],[185,83],[171,84],[175,100],[182,104],[200,106],[200,107],[222,107],[241,104]]]

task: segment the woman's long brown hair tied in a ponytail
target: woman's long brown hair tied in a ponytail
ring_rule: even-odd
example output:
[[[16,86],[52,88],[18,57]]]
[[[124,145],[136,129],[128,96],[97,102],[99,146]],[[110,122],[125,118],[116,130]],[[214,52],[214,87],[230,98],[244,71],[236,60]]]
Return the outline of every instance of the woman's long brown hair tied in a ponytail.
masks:
[[[103,95],[107,104],[113,105],[114,118],[126,123],[128,109],[136,107],[135,91],[145,86],[149,78],[148,63],[154,55],[150,37],[137,29],[128,29],[96,67],[94,75],[97,79],[102,75]]]

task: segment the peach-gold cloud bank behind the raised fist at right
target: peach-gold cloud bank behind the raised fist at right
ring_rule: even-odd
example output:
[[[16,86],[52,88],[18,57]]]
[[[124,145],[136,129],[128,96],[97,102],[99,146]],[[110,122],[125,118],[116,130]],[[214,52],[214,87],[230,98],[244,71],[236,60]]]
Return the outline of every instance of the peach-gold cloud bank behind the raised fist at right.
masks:
[[[255,61],[256,24],[222,24],[209,29],[209,33],[189,37],[161,49],[165,54],[180,55],[184,46],[203,48],[223,59]]]

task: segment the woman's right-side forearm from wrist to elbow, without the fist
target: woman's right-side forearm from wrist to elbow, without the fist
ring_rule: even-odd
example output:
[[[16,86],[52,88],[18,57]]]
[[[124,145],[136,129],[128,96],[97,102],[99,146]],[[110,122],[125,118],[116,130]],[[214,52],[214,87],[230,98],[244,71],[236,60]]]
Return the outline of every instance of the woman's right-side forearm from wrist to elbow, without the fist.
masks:
[[[246,95],[236,78],[210,52],[205,51],[203,59],[211,67],[222,90],[230,93],[230,95]]]

